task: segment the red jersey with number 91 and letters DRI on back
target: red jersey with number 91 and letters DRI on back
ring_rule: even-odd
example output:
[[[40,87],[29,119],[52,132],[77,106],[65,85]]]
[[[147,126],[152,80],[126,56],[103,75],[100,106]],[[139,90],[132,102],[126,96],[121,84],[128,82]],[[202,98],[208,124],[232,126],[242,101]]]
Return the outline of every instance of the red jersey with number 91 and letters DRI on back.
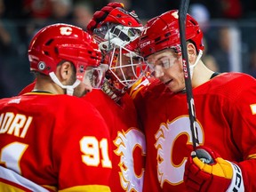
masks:
[[[85,100],[32,92],[0,100],[0,140],[0,164],[44,188],[109,191],[108,127]]]

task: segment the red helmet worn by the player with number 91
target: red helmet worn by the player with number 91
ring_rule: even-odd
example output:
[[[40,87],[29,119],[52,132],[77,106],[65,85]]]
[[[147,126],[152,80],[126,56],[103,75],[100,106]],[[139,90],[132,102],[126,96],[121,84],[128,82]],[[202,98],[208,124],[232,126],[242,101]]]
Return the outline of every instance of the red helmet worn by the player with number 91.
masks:
[[[76,78],[81,80],[87,67],[99,67],[101,52],[98,44],[82,28],[58,23],[42,28],[28,47],[30,70],[49,76],[61,60],[72,62]]]

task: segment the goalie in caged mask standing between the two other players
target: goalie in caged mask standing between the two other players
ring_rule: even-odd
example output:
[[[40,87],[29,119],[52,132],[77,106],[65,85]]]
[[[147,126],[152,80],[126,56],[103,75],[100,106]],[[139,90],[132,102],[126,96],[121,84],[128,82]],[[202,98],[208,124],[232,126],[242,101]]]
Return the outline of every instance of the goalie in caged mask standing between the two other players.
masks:
[[[127,93],[144,75],[143,58],[137,50],[142,28],[135,12],[126,12],[119,3],[109,3],[95,12],[87,26],[100,45],[108,70],[104,92],[93,90],[84,100],[98,108],[111,132],[113,171],[109,185],[118,192],[141,192],[144,179],[146,141]]]

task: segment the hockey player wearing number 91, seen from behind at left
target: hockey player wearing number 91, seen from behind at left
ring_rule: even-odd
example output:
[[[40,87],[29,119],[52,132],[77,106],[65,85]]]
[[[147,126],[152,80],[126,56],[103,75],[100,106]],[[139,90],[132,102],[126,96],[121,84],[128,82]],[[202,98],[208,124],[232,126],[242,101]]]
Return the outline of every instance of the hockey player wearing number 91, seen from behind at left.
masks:
[[[98,44],[54,24],[33,37],[28,59],[33,91],[0,100],[0,190],[110,191],[107,124],[77,98],[102,82]]]

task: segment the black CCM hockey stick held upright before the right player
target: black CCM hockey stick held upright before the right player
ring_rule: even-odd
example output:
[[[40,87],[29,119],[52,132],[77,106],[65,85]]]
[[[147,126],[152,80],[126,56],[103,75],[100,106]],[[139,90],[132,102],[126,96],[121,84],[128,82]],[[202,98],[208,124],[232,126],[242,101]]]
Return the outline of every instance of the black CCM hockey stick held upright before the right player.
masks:
[[[194,97],[192,92],[190,69],[188,63],[188,51],[186,43],[186,19],[188,12],[189,0],[181,0],[179,8],[179,25],[180,25],[180,46],[182,54],[182,65],[185,77],[186,94],[188,102],[188,114],[190,121],[190,131],[192,134],[193,148],[196,151],[196,147],[199,146],[198,133],[196,128],[196,110]]]

